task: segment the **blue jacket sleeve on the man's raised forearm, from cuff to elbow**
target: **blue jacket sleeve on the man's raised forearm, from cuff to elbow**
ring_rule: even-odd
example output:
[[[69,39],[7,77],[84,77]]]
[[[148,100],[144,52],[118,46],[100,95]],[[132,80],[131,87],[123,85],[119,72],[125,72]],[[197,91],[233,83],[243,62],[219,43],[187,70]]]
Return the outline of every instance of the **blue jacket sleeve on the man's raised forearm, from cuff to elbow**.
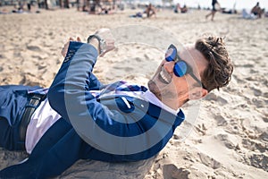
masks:
[[[92,70],[97,58],[96,47],[81,42],[71,41],[63,64],[49,88],[47,97],[51,107],[65,120],[69,120],[68,102],[72,105],[94,98],[88,88],[95,84],[91,82]],[[71,104],[70,104],[71,105]],[[72,107],[71,107],[72,108]],[[71,110],[71,109],[70,109]]]

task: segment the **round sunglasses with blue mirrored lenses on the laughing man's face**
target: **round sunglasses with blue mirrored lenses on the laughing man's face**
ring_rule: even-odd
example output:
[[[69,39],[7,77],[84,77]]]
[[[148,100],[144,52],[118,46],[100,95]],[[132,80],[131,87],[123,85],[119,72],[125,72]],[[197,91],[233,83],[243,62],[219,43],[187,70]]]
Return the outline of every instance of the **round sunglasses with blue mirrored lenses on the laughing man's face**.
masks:
[[[193,73],[193,69],[191,66],[189,66],[184,60],[180,58],[180,56],[177,53],[177,48],[174,45],[171,45],[168,47],[166,53],[165,53],[165,60],[167,62],[174,61],[174,68],[173,72],[176,76],[182,77],[186,74],[191,75],[195,81],[197,81],[200,85],[202,85],[202,88],[207,90],[204,86],[204,84],[197,78],[197,76]]]

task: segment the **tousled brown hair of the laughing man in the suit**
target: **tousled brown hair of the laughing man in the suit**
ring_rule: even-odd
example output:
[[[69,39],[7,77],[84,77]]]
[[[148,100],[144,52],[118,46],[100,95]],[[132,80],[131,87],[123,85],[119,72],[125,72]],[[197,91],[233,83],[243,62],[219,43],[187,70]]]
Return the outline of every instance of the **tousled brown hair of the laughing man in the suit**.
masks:
[[[230,81],[233,66],[222,38],[200,38],[195,46],[208,61],[208,66],[201,74],[205,88],[211,91],[226,86]]]

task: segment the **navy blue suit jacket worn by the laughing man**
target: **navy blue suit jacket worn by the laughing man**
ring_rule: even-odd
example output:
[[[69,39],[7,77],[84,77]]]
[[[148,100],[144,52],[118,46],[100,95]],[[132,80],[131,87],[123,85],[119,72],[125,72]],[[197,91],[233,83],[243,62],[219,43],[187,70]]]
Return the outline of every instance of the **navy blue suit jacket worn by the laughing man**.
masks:
[[[5,168],[0,178],[47,178],[62,174],[79,159],[138,161],[163,149],[184,120],[183,113],[172,115],[139,98],[95,98],[89,90],[107,87],[92,73],[96,58],[95,47],[70,43],[47,94],[62,118],[38,141],[26,162]]]

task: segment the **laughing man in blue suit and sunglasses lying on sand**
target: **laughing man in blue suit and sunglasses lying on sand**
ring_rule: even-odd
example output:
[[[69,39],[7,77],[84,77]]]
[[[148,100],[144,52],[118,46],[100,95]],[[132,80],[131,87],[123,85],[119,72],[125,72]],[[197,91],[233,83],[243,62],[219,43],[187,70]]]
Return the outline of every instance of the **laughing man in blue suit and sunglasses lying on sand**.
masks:
[[[93,74],[98,56],[113,50],[110,30],[63,47],[49,89],[0,87],[0,146],[29,158],[0,178],[61,175],[79,159],[138,161],[155,156],[184,120],[180,107],[226,86],[233,70],[222,38],[168,47],[148,88],[125,81],[104,85]]]

